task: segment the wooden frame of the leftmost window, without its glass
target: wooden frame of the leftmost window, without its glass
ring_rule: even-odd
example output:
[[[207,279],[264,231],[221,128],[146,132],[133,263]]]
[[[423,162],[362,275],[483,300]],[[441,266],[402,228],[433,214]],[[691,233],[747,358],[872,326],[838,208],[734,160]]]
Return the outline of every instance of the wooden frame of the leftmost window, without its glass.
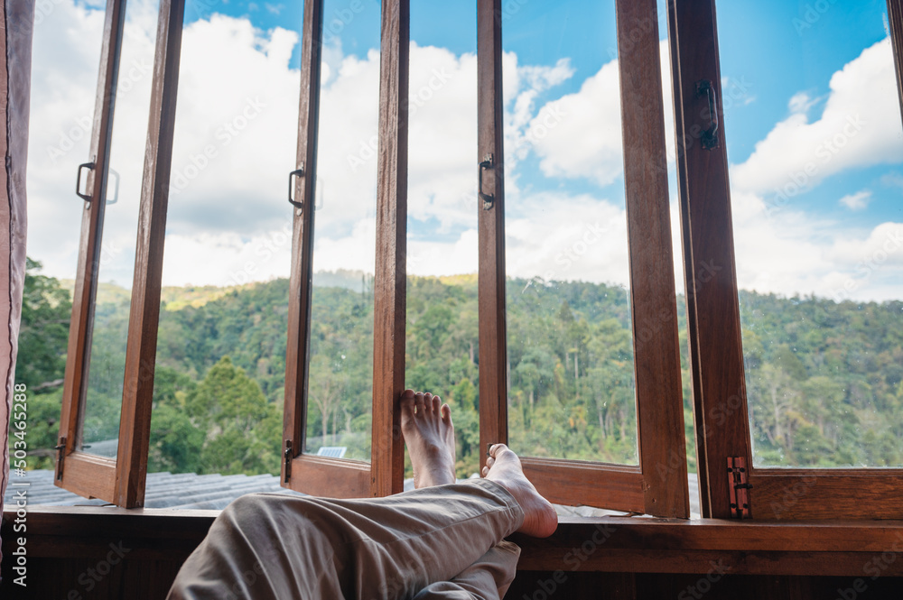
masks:
[[[100,55],[91,134],[91,161],[96,167],[88,175],[87,189],[91,199],[85,202],[81,222],[54,483],[77,494],[100,498],[126,508],[144,504],[163,270],[163,235],[169,198],[184,8],[184,0],[160,0],[116,458],[98,457],[79,450],[77,440],[81,436],[88,393],[91,332],[105,207],[103,198],[107,193],[116,78],[126,17],[125,0],[107,0]]]

